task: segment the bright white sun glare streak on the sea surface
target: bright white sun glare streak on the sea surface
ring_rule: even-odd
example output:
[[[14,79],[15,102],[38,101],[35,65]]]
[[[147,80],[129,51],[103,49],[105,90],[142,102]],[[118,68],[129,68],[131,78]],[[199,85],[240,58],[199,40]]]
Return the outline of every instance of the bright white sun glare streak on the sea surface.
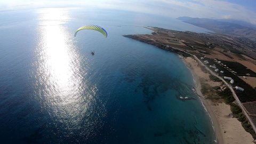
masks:
[[[68,128],[81,124],[81,115],[93,100],[87,75],[81,68],[81,55],[73,42],[73,34],[65,27],[70,20],[65,9],[38,10],[38,46],[36,53],[36,87],[39,101],[53,119],[62,121]],[[84,91],[88,91],[84,96]]]

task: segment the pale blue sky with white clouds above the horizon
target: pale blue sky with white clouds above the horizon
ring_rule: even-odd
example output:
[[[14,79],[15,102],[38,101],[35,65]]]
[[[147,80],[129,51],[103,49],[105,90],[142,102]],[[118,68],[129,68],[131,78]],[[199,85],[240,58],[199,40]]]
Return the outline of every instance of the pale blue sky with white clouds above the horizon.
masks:
[[[167,17],[235,19],[256,25],[255,0],[1,0],[0,10],[90,7],[154,13]]]

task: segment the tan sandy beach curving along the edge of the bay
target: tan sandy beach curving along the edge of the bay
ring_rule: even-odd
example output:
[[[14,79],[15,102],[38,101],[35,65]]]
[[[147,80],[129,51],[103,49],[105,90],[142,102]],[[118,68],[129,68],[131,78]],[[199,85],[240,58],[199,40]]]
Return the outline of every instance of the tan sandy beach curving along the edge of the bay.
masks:
[[[222,101],[206,99],[207,95],[202,94],[200,79],[212,87],[220,86],[221,83],[211,81],[210,74],[204,73],[193,58],[182,58],[182,60],[193,73],[196,92],[212,119],[218,143],[253,143],[252,135],[244,130],[241,122],[233,118],[229,105]]]

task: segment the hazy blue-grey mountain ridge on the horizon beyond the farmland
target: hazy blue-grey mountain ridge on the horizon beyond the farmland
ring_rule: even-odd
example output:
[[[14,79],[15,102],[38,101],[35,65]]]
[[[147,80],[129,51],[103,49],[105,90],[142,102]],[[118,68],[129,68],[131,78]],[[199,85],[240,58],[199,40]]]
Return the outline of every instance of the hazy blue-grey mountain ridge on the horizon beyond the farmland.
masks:
[[[206,19],[206,18],[177,18],[183,22],[206,28],[219,34],[230,34],[247,37],[256,41],[256,26],[251,23],[232,19]]]

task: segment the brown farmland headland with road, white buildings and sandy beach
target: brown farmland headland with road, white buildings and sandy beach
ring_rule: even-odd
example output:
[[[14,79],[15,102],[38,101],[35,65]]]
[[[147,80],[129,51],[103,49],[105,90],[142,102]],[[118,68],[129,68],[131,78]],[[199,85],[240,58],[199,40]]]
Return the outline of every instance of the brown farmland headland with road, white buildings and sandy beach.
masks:
[[[196,92],[213,121],[218,143],[256,139],[256,43],[224,34],[158,27],[151,35],[124,35],[180,55],[196,79]]]

